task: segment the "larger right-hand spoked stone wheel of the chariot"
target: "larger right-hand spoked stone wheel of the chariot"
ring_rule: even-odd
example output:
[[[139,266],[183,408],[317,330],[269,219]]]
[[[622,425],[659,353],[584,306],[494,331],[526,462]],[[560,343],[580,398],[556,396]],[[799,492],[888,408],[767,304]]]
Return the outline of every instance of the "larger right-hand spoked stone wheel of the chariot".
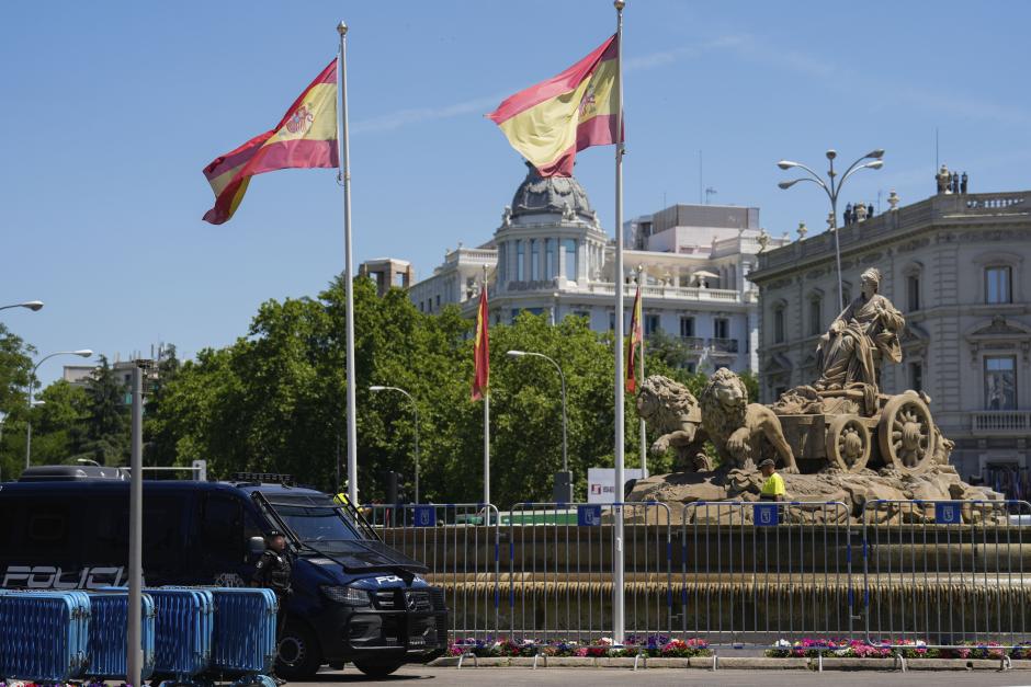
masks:
[[[916,393],[893,397],[881,411],[877,443],[884,465],[899,472],[920,474],[934,462],[938,431],[931,411]]]

